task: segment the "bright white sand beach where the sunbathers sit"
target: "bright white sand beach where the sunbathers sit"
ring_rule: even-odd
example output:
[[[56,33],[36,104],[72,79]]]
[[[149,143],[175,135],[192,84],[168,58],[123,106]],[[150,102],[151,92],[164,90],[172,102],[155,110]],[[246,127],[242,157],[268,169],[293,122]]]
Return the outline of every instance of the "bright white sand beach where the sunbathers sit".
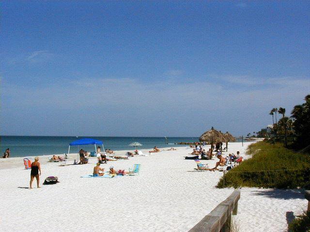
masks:
[[[229,152],[240,151],[248,159],[249,144],[230,143]],[[195,172],[195,161],[184,160],[189,152],[177,147],[101,165],[108,171],[109,166],[128,170],[141,164],[140,175],[116,178],[81,178],[92,174],[96,158],[88,164],[60,167],[40,157],[41,183],[47,176],[58,176],[60,183],[39,189],[35,181],[28,189],[30,170],[24,170],[23,158],[0,159],[0,231],[186,232],[234,190],[215,188],[223,172]],[[202,163],[212,168],[216,161]],[[241,232],[283,232],[287,221],[302,213],[307,203],[297,189],[242,188],[233,220]]]

